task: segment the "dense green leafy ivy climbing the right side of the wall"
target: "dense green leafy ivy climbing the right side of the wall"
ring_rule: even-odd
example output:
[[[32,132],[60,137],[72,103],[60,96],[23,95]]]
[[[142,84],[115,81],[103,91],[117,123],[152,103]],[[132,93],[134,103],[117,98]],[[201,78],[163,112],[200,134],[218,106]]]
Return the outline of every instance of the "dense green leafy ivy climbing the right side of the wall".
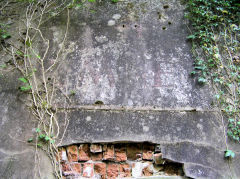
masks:
[[[199,84],[212,84],[215,104],[228,120],[227,135],[236,142],[240,142],[239,9],[237,0],[190,0],[185,14],[195,57],[191,75]]]

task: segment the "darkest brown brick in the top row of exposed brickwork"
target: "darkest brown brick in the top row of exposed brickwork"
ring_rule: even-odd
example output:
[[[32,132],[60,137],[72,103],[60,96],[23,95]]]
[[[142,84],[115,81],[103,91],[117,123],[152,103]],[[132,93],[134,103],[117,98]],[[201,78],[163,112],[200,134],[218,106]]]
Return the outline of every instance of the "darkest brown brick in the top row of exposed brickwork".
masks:
[[[127,158],[130,160],[141,159],[142,145],[141,144],[128,144],[127,145]]]

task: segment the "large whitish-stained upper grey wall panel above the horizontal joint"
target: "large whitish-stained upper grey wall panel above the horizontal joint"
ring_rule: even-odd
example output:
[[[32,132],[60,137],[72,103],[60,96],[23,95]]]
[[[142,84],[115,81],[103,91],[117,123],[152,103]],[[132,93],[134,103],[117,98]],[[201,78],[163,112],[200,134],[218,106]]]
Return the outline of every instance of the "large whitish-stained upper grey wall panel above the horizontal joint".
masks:
[[[73,49],[59,70],[61,84],[76,92],[75,104],[210,106],[211,91],[189,76],[193,59],[180,1],[104,2],[91,8],[94,14],[72,14]],[[55,41],[60,23],[50,27]]]

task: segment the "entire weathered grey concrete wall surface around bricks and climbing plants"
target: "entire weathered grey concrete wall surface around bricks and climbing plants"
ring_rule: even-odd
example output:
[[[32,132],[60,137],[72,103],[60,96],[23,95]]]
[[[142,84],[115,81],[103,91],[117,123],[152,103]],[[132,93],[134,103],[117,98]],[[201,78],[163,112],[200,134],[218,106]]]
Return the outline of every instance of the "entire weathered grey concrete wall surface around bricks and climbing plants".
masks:
[[[236,157],[224,160],[223,124],[211,109],[211,87],[189,76],[193,59],[183,15],[177,0],[102,1],[71,11],[65,56],[56,72],[58,87],[75,93],[67,105],[62,146],[147,141],[161,144],[163,157],[182,163],[186,176],[240,176],[238,145],[229,143]],[[65,22],[62,14],[43,28],[51,44],[49,63]],[[11,75],[0,78],[0,177],[32,178],[34,148],[22,141],[35,126],[17,92],[18,75]],[[64,97],[55,98],[55,107],[64,110]],[[58,118],[66,124],[64,112]],[[51,178],[50,163],[40,158],[46,162],[42,177]]]

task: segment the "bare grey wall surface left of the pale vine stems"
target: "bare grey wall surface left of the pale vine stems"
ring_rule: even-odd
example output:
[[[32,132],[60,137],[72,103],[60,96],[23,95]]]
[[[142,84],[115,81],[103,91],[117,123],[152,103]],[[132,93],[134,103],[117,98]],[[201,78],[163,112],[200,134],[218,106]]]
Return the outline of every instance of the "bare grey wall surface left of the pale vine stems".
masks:
[[[21,100],[23,96],[18,90],[18,76],[7,73],[0,78],[1,179],[32,179],[35,174],[39,176],[39,168],[35,165],[35,147],[27,143],[34,134],[35,123]],[[41,177],[53,178],[48,157],[41,151],[38,155]]]

